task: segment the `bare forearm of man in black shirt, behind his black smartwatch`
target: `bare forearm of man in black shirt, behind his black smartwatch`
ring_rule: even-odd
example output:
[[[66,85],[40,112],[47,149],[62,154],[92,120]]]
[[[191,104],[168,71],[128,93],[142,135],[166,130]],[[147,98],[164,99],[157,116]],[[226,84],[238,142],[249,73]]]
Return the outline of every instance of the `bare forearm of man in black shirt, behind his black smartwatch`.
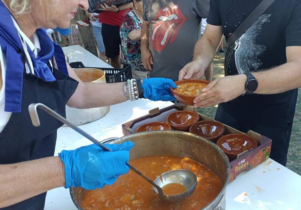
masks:
[[[257,94],[276,94],[301,87],[301,60],[252,73],[258,81]]]

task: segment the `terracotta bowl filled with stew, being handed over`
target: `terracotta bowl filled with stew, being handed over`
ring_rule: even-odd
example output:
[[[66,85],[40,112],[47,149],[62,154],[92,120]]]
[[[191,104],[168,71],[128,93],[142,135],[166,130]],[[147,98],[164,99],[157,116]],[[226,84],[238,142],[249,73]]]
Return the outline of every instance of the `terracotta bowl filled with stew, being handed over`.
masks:
[[[210,81],[203,79],[188,79],[176,81],[177,88],[170,88],[172,95],[180,102],[193,105],[195,97],[202,94],[202,89],[205,88]]]

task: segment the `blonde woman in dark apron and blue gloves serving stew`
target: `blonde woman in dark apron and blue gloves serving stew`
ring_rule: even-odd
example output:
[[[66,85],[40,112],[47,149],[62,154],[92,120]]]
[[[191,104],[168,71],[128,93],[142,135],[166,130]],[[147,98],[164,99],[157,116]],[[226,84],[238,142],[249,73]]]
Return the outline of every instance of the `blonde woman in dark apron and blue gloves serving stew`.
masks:
[[[110,152],[92,144],[53,156],[62,123],[41,112],[41,126],[34,127],[29,104],[44,103],[65,116],[66,103],[85,109],[138,98],[174,100],[170,79],[82,82],[43,29],[67,28],[77,8],[87,10],[88,1],[0,0],[1,209],[43,209],[47,190],[101,188],[129,171],[130,141],[107,145]]]

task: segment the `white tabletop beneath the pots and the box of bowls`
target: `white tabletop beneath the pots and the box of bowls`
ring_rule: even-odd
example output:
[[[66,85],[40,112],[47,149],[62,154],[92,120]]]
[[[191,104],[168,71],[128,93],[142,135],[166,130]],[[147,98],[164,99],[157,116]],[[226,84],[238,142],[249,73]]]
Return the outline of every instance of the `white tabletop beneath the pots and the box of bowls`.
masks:
[[[67,48],[69,50],[72,47],[74,46]],[[81,47],[78,47],[78,52],[85,52],[83,48],[80,49]],[[81,58],[87,59],[86,54],[82,55]],[[89,60],[92,60],[92,58]],[[101,62],[99,63],[101,65]],[[148,114],[148,110],[150,109],[156,107],[163,108],[170,105],[172,105],[171,102],[153,102],[144,99],[139,99],[135,102],[127,101],[111,106],[110,112],[106,116],[95,122],[80,125],[80,128],[92,134],[98,140],[121,137],[123,136],[121,125],[124,122],[144,116]],[[88,144],[91,144],[91,142],[71,128],[62,127],[57,131],[55,155],[64,149],[72,150]],[[256,166],[256,168],[238,175],[227,186],[227,210],[299,210],[301,209],[300,202],[301,176],[272,159],[268,159]],[[48,191],[45,210],[55,209],[77,209],[70,198],[69,189],[60,187]]]

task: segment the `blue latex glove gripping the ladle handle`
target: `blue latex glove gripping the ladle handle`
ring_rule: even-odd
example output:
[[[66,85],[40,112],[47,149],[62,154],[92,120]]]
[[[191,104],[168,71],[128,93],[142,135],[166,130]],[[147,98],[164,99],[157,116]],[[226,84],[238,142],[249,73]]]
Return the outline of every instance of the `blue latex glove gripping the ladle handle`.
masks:
[[[63,150],[58,155],[65,166],[65,188],[83,187],[86,190],[113,184],[119,175],[126,174],[129,167],[129,150],[133,142],[105,144],[112,152],[102,150],[96,144],[76,150]]]

